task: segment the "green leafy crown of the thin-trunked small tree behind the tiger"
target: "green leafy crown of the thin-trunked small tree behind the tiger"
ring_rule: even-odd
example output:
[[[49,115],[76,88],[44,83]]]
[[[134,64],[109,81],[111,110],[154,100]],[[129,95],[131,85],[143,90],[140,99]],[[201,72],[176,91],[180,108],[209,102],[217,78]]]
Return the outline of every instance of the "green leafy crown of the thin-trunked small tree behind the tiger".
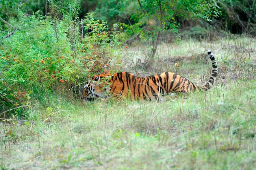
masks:
[[[148,34],[156,34],[163,29],[173,32],[178,31],[177,18],[203,18],[211,21],[211,16],[218,16],[218,1],[206,0],[144,0],[141,2],[141,9],[132,15],[135,24],[124,24],[128,33],[139,34],[141,37]],[[143,29],[143,25],[148,25],[148,29]]]

